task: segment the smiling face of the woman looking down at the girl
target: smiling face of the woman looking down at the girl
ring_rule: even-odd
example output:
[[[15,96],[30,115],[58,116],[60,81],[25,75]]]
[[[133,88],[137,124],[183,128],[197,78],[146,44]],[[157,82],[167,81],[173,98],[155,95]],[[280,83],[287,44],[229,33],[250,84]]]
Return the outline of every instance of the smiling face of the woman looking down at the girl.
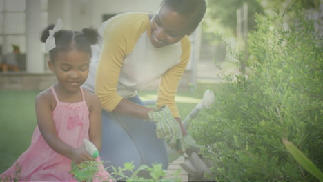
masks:
[[[167,6],[161,6],[158,14],[150,19],[150,42],[155,48],[177,43],[186,34],[194,32],[190,28],[192,21],[190,17],[184,17]]]

